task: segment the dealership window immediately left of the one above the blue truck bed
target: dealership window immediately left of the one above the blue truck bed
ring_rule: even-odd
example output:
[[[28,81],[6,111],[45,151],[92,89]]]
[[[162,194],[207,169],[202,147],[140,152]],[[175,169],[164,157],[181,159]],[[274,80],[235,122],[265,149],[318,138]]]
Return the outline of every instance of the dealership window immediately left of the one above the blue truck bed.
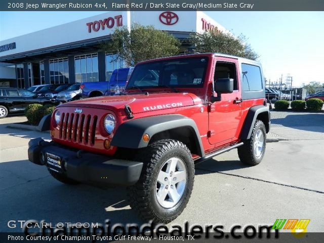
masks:
[[[50,59],[50,82],[51,84],[66,84],[69,82],[69,67],[68,67],[68,59],[65,58],[57,58]],[[44,63],[43,63],[44,64]],[[43,65],[44,71],[44,65]],[[42,72],[42,67],[41,67]],[[42,76],[42,74],[41,74]],[[44,80],[45,82],[45,80]]]

